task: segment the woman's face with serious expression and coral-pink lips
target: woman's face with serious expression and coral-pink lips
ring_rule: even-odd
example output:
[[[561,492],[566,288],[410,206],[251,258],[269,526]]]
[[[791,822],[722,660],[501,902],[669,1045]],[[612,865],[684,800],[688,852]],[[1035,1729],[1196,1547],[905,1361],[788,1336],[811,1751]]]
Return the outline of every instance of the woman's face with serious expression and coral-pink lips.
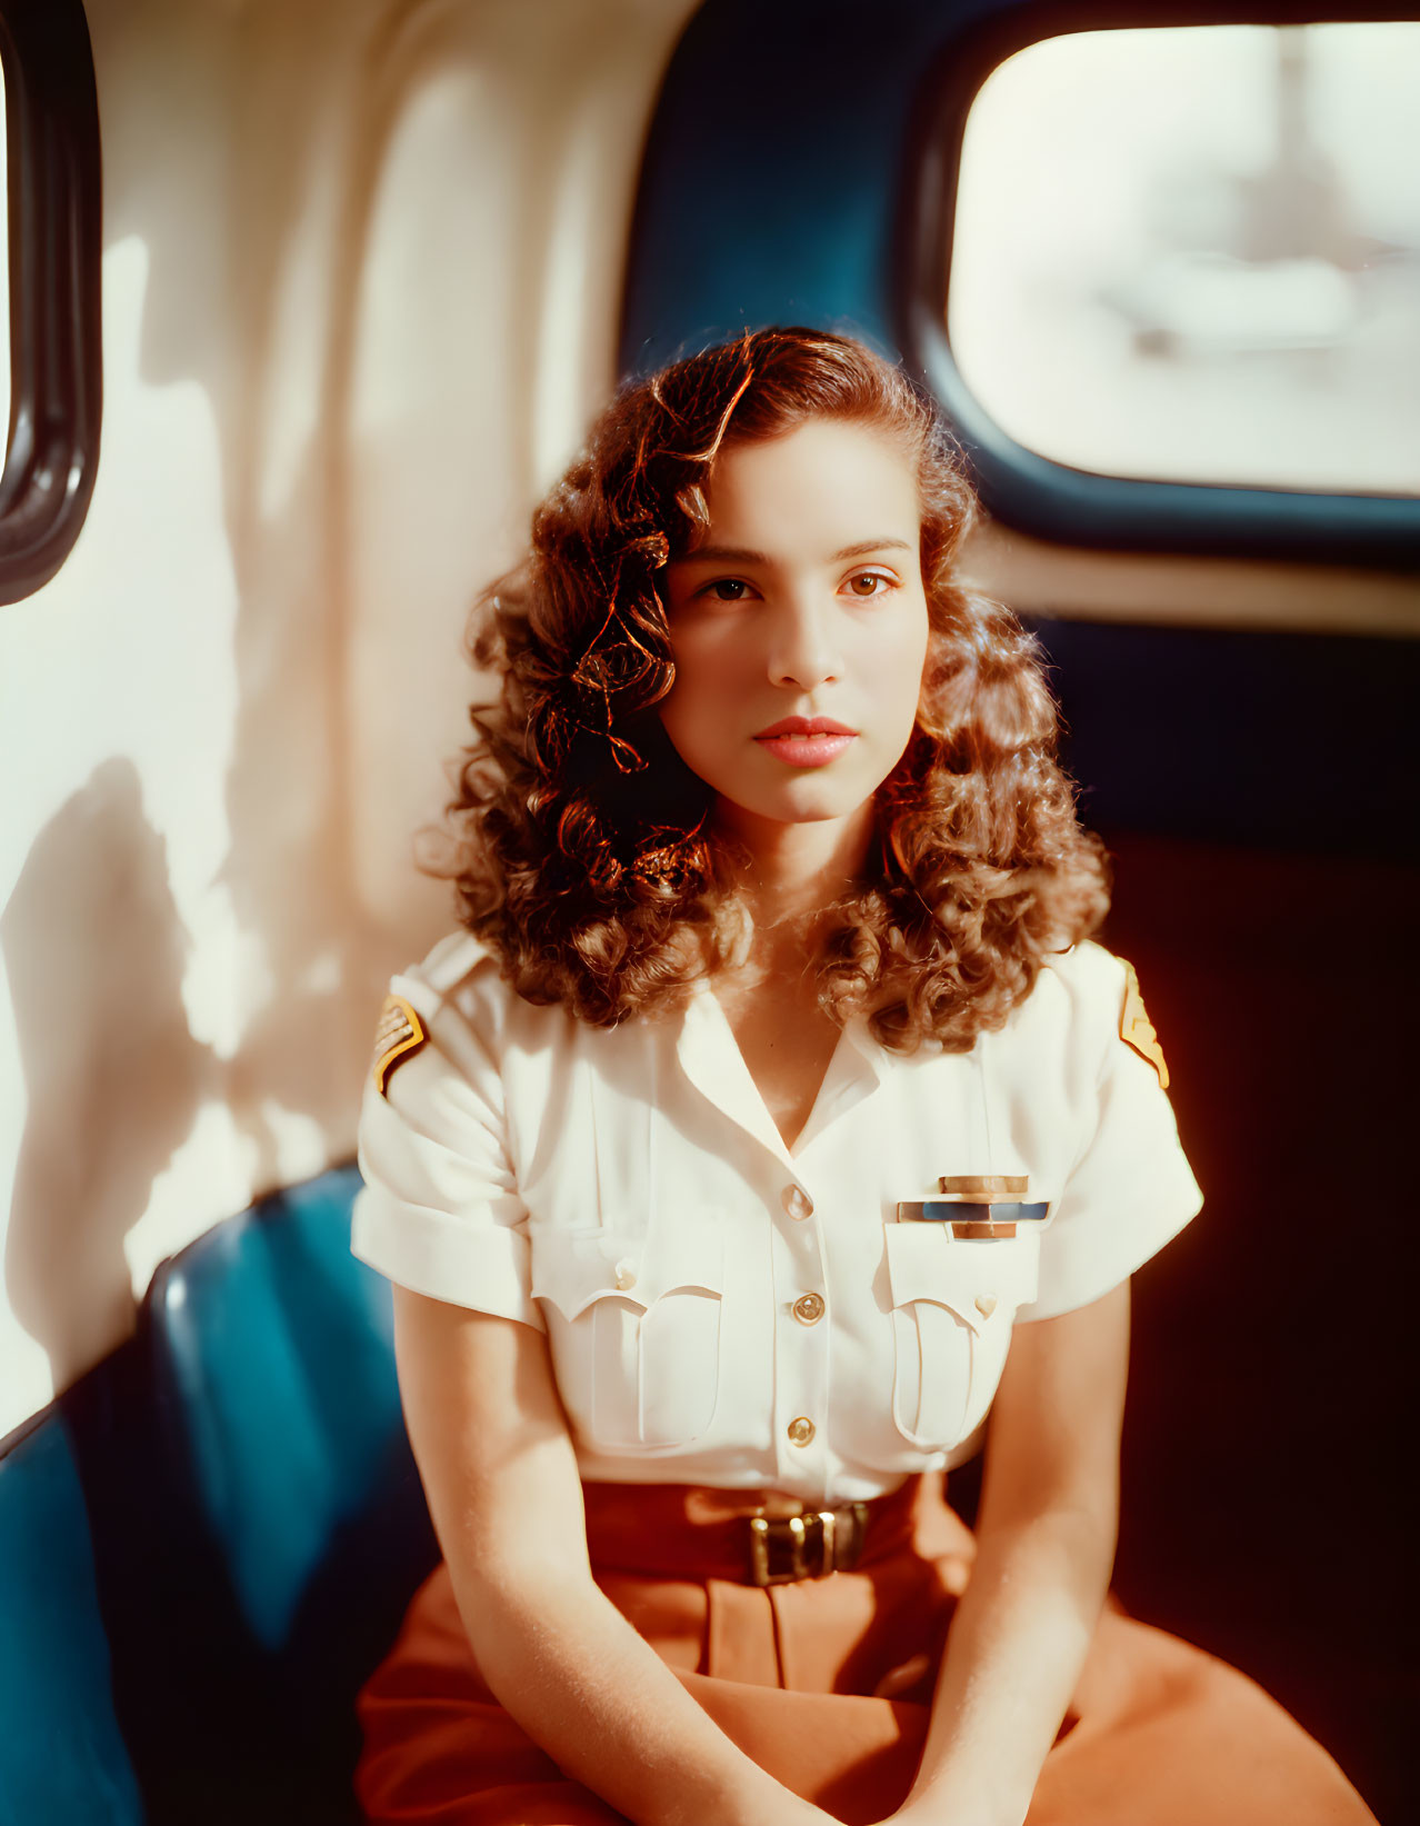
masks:
[[[816,418],[737,444],[701,548],[666,568],[661,721],[723,824],[847,820],[913,732],[927,657],[916,475],[880,431]]]

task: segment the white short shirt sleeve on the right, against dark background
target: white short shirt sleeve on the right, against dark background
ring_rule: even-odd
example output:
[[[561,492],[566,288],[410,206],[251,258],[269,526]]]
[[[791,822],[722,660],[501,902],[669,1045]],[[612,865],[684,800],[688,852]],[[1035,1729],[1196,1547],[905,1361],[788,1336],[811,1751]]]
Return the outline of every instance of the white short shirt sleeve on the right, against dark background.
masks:
[[[1064,988],[1064,1055],[1079,1145],[1040,1236],[1037,1298],[1018,1318],[1053,1318],[1099,1300],[1175,1236],[1203,1205],[1159,1070],[1122,1037],[1124,962],[1097,944],[1051,966]],[[1146,1050],[1152,1028],[1146,1030]],[[1161,1055],[1157,1055],[1161,1059]]]

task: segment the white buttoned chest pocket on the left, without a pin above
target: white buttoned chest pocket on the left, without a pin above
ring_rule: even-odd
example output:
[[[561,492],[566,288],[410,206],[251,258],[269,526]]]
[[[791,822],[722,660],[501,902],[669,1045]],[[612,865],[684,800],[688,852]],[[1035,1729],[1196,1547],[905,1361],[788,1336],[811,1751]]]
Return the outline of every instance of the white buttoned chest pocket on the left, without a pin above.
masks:
[[[725,1238],[714,1216],[681,1231],[533,1229],[562,1404],[593,1452],[684,1446],[719,1393]]]

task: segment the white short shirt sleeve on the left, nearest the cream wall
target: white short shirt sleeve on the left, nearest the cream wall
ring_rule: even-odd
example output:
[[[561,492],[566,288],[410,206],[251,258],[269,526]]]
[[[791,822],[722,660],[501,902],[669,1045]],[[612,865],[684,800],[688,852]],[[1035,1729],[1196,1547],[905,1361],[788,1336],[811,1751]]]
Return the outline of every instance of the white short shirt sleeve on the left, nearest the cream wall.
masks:
[[[482,970],[498,990],[491,962]],[[507,1150],[495,1023],[478,1021],[478,997],[453,999],[418,970],[396,977],[391,993],[416,1010],[427,1041],[394,1065],[383,1090],[367,1076],[365,1187],[350,1247],[402,1287],[544,1331],[531,1296],[527,1211]]]

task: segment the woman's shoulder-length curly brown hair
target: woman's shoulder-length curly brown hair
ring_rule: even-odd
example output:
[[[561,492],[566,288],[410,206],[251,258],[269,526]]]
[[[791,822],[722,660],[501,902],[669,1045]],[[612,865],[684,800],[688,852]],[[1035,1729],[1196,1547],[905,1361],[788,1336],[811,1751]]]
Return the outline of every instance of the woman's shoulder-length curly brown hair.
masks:
[[[916,725],[878,789],[869,878],[829,909],[820,1001],[896,1052],[966,1050],[1049,951],[1104,917],[1099,842],[1055,761],[1035,639],[956,577],[976,504],[933,407],[861,343],[768,329],[626,385],[533,515],[526,562],[478,599],[500,677],[449,805],[462,924],[515,990],[613,1026],[721,968],[743,928],[710,791],[666,738],[675,676],[657,573],[703,539],[719,451],[812,418],[914,464],[929,648]]]

